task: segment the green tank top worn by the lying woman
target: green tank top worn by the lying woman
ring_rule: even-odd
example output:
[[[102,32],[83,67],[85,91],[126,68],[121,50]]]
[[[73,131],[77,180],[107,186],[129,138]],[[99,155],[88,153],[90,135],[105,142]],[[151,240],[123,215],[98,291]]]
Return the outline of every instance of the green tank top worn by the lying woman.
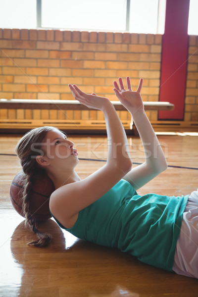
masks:
[[[80,239],[116,247],[142,262],[172,271],[188,197],[140,196],[131,184],[121,180],[81,210],[72,228],[66,229],[54,219]]]

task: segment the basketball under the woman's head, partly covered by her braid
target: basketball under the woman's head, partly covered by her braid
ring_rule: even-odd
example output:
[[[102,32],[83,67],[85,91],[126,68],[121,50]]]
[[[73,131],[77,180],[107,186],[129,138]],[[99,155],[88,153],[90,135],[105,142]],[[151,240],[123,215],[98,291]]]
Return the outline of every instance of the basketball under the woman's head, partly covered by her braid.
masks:
[[[23,205],[24,173],[20,171],[10,186],[10,200],[14,209],[24,217]],[[49,197],[54,191],[54,185],[49,177],[45,176],[33,183],[30,211],[36,221],[45,221],[51,218],[49,211]]]

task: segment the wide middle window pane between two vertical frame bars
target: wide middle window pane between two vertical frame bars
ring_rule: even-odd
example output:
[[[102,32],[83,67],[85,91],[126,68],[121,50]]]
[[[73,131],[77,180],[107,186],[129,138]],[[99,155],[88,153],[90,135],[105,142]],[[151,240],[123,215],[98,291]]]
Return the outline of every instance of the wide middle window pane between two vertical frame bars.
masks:
[[[42,27],[124,31],[125,19],[126,0],[42,0]]]

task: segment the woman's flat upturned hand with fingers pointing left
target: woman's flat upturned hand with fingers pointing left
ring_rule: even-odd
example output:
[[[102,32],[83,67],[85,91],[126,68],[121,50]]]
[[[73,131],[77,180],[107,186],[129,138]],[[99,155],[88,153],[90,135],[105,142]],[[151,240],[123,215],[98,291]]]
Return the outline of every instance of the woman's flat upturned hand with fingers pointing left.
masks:
[[[69,88],[76,100],[89,108],[102,110],[107,102],[110,102],[105,97],[99,97],[95,93],[86,94],[81,91],[76,85],[69,84]]]

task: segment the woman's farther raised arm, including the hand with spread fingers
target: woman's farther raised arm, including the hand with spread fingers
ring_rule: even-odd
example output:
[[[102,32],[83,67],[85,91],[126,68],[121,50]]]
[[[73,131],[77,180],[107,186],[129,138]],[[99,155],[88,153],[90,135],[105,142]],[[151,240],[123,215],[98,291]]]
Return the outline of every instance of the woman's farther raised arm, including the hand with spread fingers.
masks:
[[[132,91],[129,77],[127,77],[127,90],[125,90],[121,78],[119,78],[119,85],[120,88],[114,82],[114,92],[133,116],[145,151],[145,163],[133,168],[124,177],[125,180],[138,190],[164,171],[167,168],[167,163],[163,150],[144,110],[144,104],[141,98],[143,79],[140,80],[137,92]]]

